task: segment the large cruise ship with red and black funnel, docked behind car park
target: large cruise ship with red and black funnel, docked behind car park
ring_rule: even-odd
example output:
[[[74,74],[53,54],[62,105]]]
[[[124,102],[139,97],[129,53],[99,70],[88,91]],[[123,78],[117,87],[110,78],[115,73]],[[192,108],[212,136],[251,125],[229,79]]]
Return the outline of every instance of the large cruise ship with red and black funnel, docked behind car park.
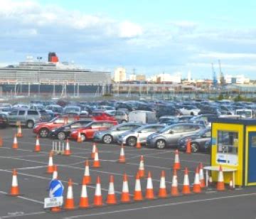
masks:
[[[48,62],[41,57],[28,57],[18,65],[0,68],[2,95],[35,94],[105,94],[111,90],[111,73],[81,69],[73,63],[60,63],[55,53],[48,53]]]

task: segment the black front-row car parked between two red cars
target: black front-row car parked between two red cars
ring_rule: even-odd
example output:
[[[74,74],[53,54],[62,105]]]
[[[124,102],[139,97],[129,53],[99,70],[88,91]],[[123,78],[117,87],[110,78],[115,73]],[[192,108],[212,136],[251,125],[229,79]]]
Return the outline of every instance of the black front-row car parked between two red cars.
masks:
[[[78,129],[80,127],[85,127],[90,122],[92,122],[92,120],[87,119],[87,120],[79,120],[79,121],[71,122],[69,124],[65,124],[62,127],[58,127],[56,129],[50,130],[49,137],[57,138],[57,139],[60,139],[60,140],[67,139],[70,132],[73,129]]]

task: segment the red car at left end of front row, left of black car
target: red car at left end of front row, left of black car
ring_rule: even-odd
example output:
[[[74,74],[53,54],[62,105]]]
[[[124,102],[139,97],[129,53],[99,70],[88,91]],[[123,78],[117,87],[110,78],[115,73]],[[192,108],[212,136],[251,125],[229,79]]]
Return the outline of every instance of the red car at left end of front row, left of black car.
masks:
[[[50,122],[40,122],[34,125],[33,133],[38,134],[41,138],[48,137],[51,129],[58,128],[64,124],[79,120],[79,117],[55,117]]]

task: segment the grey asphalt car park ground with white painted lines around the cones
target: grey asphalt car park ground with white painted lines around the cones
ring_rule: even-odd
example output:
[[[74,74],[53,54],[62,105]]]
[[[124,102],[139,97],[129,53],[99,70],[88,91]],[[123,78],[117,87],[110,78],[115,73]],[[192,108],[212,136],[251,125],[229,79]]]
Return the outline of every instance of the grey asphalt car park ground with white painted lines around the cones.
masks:
[[[36,136],[30,129],[23,129],[23,138],[18,139],[18,149],[11,148],[16,129],[1,129],[4,146],[0,147],[0,218],[256,218],[255,187],[236,188],[234,191],[217,192],[215,188],[203,190],[201,194],[178,196],[153,201],[132,202],[128,204],[104,205],[100,208],[91,206],[88,209],[62,210],[51,213],[43,208],[43,200],[48,197],[48,184],[52,178],[46,173],[48,155],[52,149],[52,139],[40,139],[40,153],[33,152]],[[118,164],[120,147],[118,145],[97,144],[99,149],[100,169],[90,168],[92,185],[87,186],[90,204],[95,193],[95,179],[101,178],[102,196],[105,201],[110,175],[114,176],[114,188],[119,201],[122,192],[122,175],[129,176],[129,193],[134,193],[134,176],[139,167],[139,158],[144,155],[145,170],[151,171],[154,191],[159,190],[161,170],[166,171],[166,187],[171,188],[174,151],[171,149],[134,149],[125,147],[126,164]],[[84,173],[84,162],[90,158],[92,141],[78,144],[70,142],[71,156],[55,155],[53,163],[58,165],[58,176],[65,186],[64,198],[67,193],[68,178],[72,178],[75,205],[80,199],[81,181]],[[209,165],[208,154],[180,153],[181,171],[178,171],[178,183],[181,191],[183,169],[190,170],[189,178],[193,183],[194,170],[199,162]],[[92,163],[92,161],[90,161]],[[21,196],[11,197],[12,169],[18,171],[18,186]],[[146,178],[142,179],[142,191],[146,189]]]

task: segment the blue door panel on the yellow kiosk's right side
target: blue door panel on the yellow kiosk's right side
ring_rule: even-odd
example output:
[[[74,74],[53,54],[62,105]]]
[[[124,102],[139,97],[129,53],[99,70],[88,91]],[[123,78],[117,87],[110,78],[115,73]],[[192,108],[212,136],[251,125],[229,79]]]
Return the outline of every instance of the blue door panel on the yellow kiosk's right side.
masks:
[[[256,182],[256,132],[249,132],[248,183]]]

